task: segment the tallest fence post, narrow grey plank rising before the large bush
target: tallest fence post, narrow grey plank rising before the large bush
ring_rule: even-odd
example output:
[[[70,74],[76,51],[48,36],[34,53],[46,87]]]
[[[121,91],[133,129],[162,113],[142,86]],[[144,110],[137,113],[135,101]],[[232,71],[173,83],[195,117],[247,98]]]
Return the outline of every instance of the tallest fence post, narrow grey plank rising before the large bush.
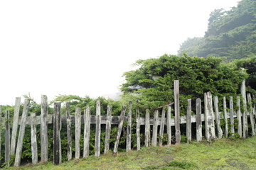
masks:
[[[176,144],[181,143],[180,128],[180,102],[179,102],[179,81],[174,80],[174,112],[175,112],[175,140]]]

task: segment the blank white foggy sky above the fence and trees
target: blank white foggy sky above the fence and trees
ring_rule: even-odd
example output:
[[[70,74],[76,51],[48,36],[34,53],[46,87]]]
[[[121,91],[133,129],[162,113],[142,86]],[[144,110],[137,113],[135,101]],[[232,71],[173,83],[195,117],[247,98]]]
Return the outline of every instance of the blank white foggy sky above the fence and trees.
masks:
[[[238,0],[0,1],[0,104],[114,94],[131,64],[176,55]]]

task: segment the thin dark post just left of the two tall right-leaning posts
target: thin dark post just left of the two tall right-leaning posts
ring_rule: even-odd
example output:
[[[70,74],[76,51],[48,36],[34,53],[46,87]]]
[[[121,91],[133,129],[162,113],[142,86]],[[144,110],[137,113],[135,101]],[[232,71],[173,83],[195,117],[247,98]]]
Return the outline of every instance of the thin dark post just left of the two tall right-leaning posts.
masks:
[[[7,163],[7,166],[10,166],[10,111],[6,111],[4,114],[5,119],[5,155],[4,161]]]

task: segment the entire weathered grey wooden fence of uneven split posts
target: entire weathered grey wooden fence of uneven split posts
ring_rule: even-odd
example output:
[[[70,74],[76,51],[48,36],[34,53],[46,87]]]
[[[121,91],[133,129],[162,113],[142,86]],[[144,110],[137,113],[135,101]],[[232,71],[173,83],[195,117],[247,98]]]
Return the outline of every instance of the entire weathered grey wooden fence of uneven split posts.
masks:
[[[191,123],[196,123],[196,137],[198,142],[203,139],[202,123],[205,125],[205,139],[214,140],[215,138],[222,138],[223,135],[228,137],[228,133],[235,133],[234,118],[238,121],[237,133],[240,137],[248,137],[248,125],[250,122],[252,135],[255,135],[255,106],[252,106],[251,94],[245,94],[245,81],[241,86],[242,105],[240,104],[240,97],[237,97],[236,110],[233,108],[233,97],[229,98],[229,107],[227,108],[226,98],[223,98],[223,112],[219,112],[218,97],[212,95],[210,92],[204,94],[204,113],[202,113],[201,99],[196,99],[196,115],[191,115],[191,99],[188,99],[188,108],[186,116],[180,117],[180,103],[179,103],[179,88],[178,80],[174,81],[174,118],[171,116],[171,106],[159,107],[154,110],[154,118],[149,118],[149,109],[146,110],[145,118],[141,118],[139,114],[139,108],[136,108],[136,136],[137,136],[137,150],[141,147],[140,128],[144,127],[144,146],[150,145],[155,147],[163,145],[164,126],[166,126],[166,133],[168,136],[167,145],[171,145],[172,134],[171,127],[175,128],[175,142],[176,144],[181,142],[181,128],[180,124],[186,124],[186,140],[190,142],[192,140]],[[247,98],[247,100],[246,100]],[[139,101],[137,101],[139,102]],[[41,131],[41,162],[48,161],[48,124],[53,124],[53,162],[54,164],[60,164],[62,158],[61,150],[61,137],[60,130],[63,125],[67,127],[68,134],[68,161],[73,158],[72,155],[72,139],[71,139],[71,124],[75,123],[75,159],[80,158],[80,136],[81,126],[84,126],[83,142],[84,147],[82,151],[82,157],[89,157],[90,150],[90,125],[95,124],[95,157],[100,156],[100,134],[101,125],[105,125],[105,149],[104,153],[110,150],[110,130],[111,125],[118,125],[117,137],[114,142],[113,153],[117,153],[119,146],[119,140],[121,137],[124,121],[127,121],[127,141],[126,151],[131,150],[132,140],[132,102],[127,106],[122,106],[122,111],[119,116],[112,116],[112,106],[107,106],[107,115],[101,115],[100,101],[96,103],[96,114],[91,115],[90,107],[88,106],[83,114],[81,114],[80,108],[75,109],[75,115],[70,114],[69,103],[66,103],[66,114],[60,114],[61,103],[55,102],[54,114],[48,114],[48,100],[47,96],[41,96],[41,115],[36,116],[35,113],[31,113],[28,116],[28,108],[30,101],[25,99],[23,104],[23,111],[21,118],[18,118],[20,110],[21,98],[16,98],[14,106],[14,118],[12,125],[12,132],[10,132],[9,111],[4,113],[4,117],[0,117],[1,125],[5,126],[5,162],[9,164],[10,156],[15,154],[14,166],[19,166],[21,163],[21,152],[23,148],[23,137],[25,134],[26,125],[31,125],[31,154],[32,163],[38,162],[38,148],[36,140],[36,125],[40,125]],[[249,108],[249,109],[247,109]],[[127,111],[128,110],[128,111]],[[159,111],[161,111],[161,118],[159,118]],[[0,113],[2,113],[2,107],[0,106]],[[125,114],[127,113],[127,116]],[[247,118],[250,118],[250,121]],[[225,128],[220,127],[220,119],[225,120]],[[228,129],[228,119],[230,119],[230,129]],[[19,130],[18,130],[19,125]],[[144,126],[142,126],[144,125]],[[151,125],[153,127],[151,127]],[[223,132],[224,131],[224,132]],[[18,132],[18,140],[17,138]],[[159,133],[158,133],[159,132]],[[10,140],[11,139],[11,140]],[[0,135],[1,143],[1,135]],[[1,148],[0,148],[1,149]],[[1,153],[1,151],[0,151]]]

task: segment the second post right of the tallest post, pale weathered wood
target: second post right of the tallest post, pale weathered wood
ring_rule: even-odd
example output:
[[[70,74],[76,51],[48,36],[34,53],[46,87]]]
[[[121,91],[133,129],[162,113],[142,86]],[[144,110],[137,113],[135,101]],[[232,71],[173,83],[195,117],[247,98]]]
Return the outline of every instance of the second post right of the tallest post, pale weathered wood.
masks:
[[[196,99],[196,140],[200,142],[202,140],[202,105],[201,105],[201,99]]]

